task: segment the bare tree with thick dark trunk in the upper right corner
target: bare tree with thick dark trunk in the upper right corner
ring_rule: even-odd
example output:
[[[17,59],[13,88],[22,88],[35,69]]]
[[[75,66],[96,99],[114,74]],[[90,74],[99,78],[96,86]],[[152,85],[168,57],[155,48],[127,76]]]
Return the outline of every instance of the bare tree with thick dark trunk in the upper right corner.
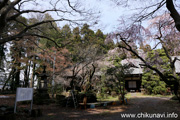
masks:
[[[180,31],[180,15],[177,11],[178,5],[175,7],[175,4],[178,4],[178,1],[174,1],[174,0],[156,0],[156,1],[112,0],[112,1],[114,1],[118,6],[129,7],[129,8],[133,6],[131,9],[132,12],[134,10],[137,10],[137,12],[133,15],[132,19],[134,22],[140,22],[140,23],[144,20],[152,19],[162,14],[162,12],[168,10],[175,22],[175,26],[177,30]],[[138,4],[138,5],[134,7],[134,4]]]

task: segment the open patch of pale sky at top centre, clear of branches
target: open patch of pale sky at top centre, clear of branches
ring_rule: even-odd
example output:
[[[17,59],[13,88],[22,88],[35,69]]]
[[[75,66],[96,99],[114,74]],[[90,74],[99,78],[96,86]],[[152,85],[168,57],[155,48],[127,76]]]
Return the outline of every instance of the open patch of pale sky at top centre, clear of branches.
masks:
[[[115,31],[119,24],[118,19],[125,12],[124,8],[117,7],[110,0],[84,0],[84,3],[96,12],[101,12],[96,29],[101,29],[104,33]]]

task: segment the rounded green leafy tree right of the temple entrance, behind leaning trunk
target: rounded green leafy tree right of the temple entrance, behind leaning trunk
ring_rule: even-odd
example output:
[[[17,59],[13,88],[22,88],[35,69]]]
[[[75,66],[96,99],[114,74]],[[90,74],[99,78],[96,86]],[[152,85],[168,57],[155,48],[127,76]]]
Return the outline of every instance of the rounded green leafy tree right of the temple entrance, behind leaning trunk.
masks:
[[[172,73],[170,65],[167,64],[168,58],[163,49],[148,51],[146,60],[151,61],[153,66],[158,68],[162,73],[167,74],[167,76]],[[154,74],[154,72],[148,68],[144,69],[142,85],[148,94],[166,94],[167,87],[171,87],[173,89],[173,86],[167,86],[157,74]]]

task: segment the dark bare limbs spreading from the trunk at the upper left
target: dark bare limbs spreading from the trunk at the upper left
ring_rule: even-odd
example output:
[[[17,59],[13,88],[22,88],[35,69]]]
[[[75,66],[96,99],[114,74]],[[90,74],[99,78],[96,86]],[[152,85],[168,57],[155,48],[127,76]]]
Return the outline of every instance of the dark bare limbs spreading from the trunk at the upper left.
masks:
[[[46,10],[40,10],[40,9],[28,9],[24,10],[22,7],[23,5],[27,5],[28,3],[34,3],[35,6],[38,5],[38,2],[36,0],[2,0],[0,2],[0,44],[4,44],[6,42],[12,41],[12,40],[20,40],[23,36],[26,36],[25,33],[30,32],[30,30],[34,29],[35,27],[38,27],[39,25],[45,24],[45,23],[53,23],[56,21],[66,21],[73,24],[78,24],[78,21],[86,21],[90,20],[89,17],[93,14],[91,11],[85,11],[85,9],[78,10],[77,9],[77,3],[72,5],[72,2],[70,0],[64,0],[63,2],[61,0],[56,0],[55,3],[52,1],[49,1],[52,8],[46,9]],[[39,1],[40,2],[40,1]],[[60,3],[62,2],[62,3]],[[57,8],[58,5],[63,3],[66,3],[64,5],[64,8]],[[28,13],[49,13],[49,12],[55,12],[60,18],[56,20],[46,20],[41,22],[36,22],[33,25],[29,25],[23,21],[21,21],[21,16],[23,14]],[[74,14],[76,13],[76,14]],[[61,15],[62,14],[62,15]],[[67,15],[67,16],[66,16]],[[79,18],[71,16],[80,15]],[[67,19],[65,17],[68,17]],[[92,18],[92,17],[91,17]],[[6,29],[8,25],[11,23],[13,24],[21,24],[24,26],[24,29],[22,28],[21,31],[11,31],[11,29]]]

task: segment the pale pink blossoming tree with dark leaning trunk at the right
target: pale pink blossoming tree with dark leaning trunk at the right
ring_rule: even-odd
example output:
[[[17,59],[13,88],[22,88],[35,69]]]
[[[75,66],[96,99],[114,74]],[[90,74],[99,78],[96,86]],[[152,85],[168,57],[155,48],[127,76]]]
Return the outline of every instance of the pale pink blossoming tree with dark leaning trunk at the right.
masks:
[[[177,76],[175,70],[175,63],[177,61],[180,61],[180,59],[178,59],[178,57],[176,56],[171,57],[172,55],[174,55],[175,52],[180,50],[179,46],[172,45],[173,43],[169,44],[171,43],[170,41],[174,42],[174,44],[179,44],[179,32],[173,28],[174,24],[172,20],[170,20],[169,17],[164,16],[165,15],[162,15],[151,21],[153,22],[153,25],[151,27],[157,31],[155,33],[154,30],[150,30],[150,28],[149,30],[147,30],[142,26],[133,24],[128,27],[126,26],[124,30],[121,29],[117,33],[112,34],[111,37],[117,40],[119,48],[123,48],[127,51],[130,51],[137,58],[139,58],[143,62],[141,66],[155,71],[160,76],[161,80],[163,80],[167,85],[173,85],[175,95],[178,97],[180,101],[180,78]],[[146,34],[145,37],[143,37],[143,34]],[[136,41],[136,43],[142,43],[143,41],[146,42],[147,39],[158,41],[155,44],[154,49],[159,44],[162,46],[162,49],[165,51],[165,54],[169,59],[169,63],[166,64],[170,65],[170,69],[168,71],[171,72],[171,74],[166,74],[163,68],[154,66],[154,64],[158,63],[152,63],[152,61],[148,61],[133,49],[131,41]],[[120,42],[123,42],[124,44],[120,44]],[[159,58],[159,56],[156,57]]]

